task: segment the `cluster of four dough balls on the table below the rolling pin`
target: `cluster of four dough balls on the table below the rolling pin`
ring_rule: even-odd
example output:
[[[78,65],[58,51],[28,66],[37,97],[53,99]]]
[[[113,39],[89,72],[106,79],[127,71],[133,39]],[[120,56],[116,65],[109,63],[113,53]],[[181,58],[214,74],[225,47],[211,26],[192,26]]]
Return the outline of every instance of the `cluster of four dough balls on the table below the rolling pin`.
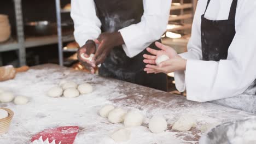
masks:
[[[92,91],[93,88],[89,83],[77,85],[77,83],[73,81],[62,80],[59,86],[49,89],[48,96],[57,98],[61,97],[63,94],[66,98],[75,98],[78,97],[79,94],[88,94]]]

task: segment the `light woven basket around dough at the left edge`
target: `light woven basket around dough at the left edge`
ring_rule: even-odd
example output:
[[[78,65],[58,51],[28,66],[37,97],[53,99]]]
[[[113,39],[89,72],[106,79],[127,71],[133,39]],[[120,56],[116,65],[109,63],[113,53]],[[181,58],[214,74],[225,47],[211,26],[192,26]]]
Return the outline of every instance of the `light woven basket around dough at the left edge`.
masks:
[[[5,108],[0,108],[8,112],[9,116],[7,118],[0,119],[0,135],[7,133],[9,130],[9,126],[11,123],[11,119],[13,119],[13,111]]]

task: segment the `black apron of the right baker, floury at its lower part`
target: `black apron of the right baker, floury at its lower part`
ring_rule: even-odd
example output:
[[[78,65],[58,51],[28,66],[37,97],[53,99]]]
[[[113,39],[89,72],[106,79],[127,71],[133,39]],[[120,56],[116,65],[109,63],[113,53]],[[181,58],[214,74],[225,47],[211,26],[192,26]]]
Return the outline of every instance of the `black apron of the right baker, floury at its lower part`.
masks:
[[[206,10],[211,0],[208,0]],[[220,61],[228,57],[229,46],[235,37],[237,0],[233,0],[228,20],[208,20],[201,17],[201,43],[203,61]],[[205,12],[206,12],[205,10]],[[211,103],[232,107],[256,114],[256,80],[247,90],[235,97],[214,100]]]

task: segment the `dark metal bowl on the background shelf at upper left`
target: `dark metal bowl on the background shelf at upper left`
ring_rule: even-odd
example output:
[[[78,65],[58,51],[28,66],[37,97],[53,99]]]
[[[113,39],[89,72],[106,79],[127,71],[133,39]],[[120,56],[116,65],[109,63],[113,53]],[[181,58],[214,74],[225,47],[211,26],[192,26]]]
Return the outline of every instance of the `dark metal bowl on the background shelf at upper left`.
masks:
[[[57,24],[50,21],[33,21],[25,23],[25,34],[31,36],[52,35],[57,33]]]

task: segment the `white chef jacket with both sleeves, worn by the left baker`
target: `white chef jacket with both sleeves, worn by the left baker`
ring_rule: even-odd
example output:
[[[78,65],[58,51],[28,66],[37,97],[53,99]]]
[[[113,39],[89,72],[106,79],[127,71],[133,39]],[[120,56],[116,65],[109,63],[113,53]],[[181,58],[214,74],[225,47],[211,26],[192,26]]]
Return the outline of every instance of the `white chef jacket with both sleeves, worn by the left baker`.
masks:
[[[171,0],[143,0],[143,5],[141,22],[119,30],[125,42],[123,49],[129,57],[138,55],[166,31]],[[101,34],[101,21],[96,16],[94,0],[71,1],[71,17],[74,37],[80,46]]]

